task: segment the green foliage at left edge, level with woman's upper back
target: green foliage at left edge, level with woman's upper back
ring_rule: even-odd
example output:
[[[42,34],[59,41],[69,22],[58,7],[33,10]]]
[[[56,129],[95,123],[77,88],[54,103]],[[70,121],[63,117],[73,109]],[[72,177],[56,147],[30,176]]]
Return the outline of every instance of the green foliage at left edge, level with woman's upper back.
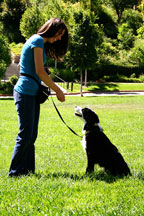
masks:
[[[3,77],[6,68],[11,63],[11,53],[4,35],[0,34],[0,78]]]

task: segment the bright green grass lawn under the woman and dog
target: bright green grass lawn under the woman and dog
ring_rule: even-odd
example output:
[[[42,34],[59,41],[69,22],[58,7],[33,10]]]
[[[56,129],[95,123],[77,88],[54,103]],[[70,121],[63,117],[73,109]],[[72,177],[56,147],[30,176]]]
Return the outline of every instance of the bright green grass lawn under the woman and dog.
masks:
[[[2,216],[142,216],[144,214],[144,97],[54,98],[64,120],[81,135],[74,106],[89,106],[127,161],[132,176],[114,178],[95,166],[85,175],[80,138],[59,119],[51,99],[41,105],[36,141],[36,173],[7,177],[18,130],[12,99],[0,100],[0,215]]]

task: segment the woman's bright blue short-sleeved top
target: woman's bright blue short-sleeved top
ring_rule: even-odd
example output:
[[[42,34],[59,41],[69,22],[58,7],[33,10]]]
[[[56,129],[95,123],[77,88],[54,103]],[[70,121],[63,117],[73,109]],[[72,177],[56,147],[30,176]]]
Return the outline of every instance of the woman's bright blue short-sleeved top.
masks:
[[[31,36],[23,46],[20,58],[20,73],[30,74],[34,76],[39,82],[40,78],[36,74],[34,63],[34,47],[40,47],[43,49],[43,61],[46,62],[46,54],[44,49],[44,40],[41,36],[35,34]],[[33,79],[20,76],[16,83],[14,90],[21,94],[36,95],[39,85]]]

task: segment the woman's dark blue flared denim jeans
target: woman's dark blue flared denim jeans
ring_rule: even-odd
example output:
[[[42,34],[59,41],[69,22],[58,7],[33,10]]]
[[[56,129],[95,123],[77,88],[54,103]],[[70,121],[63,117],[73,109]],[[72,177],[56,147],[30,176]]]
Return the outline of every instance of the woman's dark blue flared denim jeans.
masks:
[[[40,105],[36,96],[22,95],[14,91],[19,132],[12,155],[9,176],[35,172],[35,140],[38,134]]]

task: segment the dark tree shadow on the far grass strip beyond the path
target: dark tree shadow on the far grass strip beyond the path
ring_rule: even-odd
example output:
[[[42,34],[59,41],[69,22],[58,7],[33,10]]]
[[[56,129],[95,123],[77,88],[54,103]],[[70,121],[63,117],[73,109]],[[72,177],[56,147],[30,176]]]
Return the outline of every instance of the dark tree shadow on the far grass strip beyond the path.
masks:
[[[89,91],[119,91],[118,85],[115,83],[98,83],[93,86],[89,85]]]

